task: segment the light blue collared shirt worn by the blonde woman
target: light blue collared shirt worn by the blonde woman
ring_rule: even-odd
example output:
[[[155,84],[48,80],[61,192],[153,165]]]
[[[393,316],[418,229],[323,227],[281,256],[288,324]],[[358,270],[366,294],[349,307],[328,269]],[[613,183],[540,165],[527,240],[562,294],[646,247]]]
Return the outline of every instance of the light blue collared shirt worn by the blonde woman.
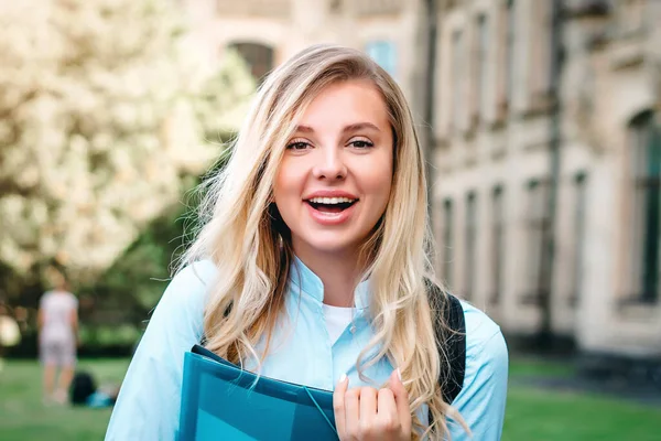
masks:
[[[115,406],[106,440],[174,440],[178,429],[184,354],[203,336],[208,288],[217,277],[213,262],[201,261],[174,277],[131,361]],[[323,312],[321,279],[295,260],[283,314],[274,330],[261,375],[333,390],[346,373],[349,387],[384,384],[393,367],[383,357],[355,368],[373,333],[368,318],[368,282],[355,293],[354,325],[330,344]],[[466,319],[466,374],[453,406],[473,432],[473,440],[499,440],[507,396],[508,354],[500,329],[485,313],[462,302]],[[470,439],[448,421],[453,441]]]

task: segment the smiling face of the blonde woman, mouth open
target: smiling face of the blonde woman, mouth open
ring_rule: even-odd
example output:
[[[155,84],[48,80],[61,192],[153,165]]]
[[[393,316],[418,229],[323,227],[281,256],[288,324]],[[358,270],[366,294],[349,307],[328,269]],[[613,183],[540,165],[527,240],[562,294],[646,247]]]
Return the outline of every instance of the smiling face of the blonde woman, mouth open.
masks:
[[[371,83],[336,83],[315,97],[273,186],[299,256],[358,250],[390,197],[392,146],[386,103]]]

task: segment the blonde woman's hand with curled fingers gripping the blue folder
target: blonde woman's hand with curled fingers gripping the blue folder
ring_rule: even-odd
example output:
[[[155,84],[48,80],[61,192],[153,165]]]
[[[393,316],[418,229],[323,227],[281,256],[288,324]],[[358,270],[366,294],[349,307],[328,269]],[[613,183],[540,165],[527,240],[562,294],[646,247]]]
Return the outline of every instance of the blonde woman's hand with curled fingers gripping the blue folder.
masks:
[[[349,379],[344,376],[333,394],[335,424],[342,441],[411,439],[409,395],[398,370],[390,375],[389,387],[348,387]]]

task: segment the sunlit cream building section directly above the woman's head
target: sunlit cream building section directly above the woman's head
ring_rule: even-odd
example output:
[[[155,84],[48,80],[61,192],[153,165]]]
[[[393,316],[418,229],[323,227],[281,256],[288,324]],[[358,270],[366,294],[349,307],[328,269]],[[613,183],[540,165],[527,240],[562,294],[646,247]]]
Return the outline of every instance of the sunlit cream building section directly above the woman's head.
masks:
[[[410,97],[420,82],[416,0],[182,1],[209,60],[237,49],[258,78],[311,44],[337,43],[369,53]]]

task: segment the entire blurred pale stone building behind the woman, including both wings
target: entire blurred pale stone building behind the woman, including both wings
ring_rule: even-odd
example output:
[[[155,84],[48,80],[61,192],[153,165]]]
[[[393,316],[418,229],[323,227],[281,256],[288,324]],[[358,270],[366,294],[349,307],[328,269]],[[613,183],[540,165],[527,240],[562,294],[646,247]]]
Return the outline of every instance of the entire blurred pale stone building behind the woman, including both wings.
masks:
[[[394,76],[433,127],[438,275],[506,332],[661,355],[661,2],[431,3],[185,1],[209,60],[258,78],[321,42]]]

